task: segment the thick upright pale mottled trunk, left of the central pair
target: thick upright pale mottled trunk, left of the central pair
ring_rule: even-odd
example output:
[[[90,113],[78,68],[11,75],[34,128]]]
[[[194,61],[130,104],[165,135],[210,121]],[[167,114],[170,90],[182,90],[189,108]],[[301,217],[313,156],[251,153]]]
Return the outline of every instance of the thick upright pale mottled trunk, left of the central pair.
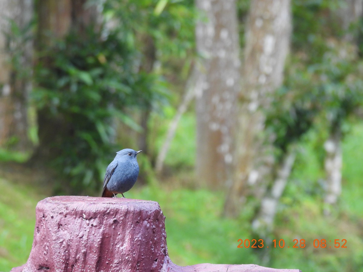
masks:
[[[206,17],[196,25],[196,172],[200,184],[218,189],[232,166],[240,90],[236,1],[196,0],[196,6]]]

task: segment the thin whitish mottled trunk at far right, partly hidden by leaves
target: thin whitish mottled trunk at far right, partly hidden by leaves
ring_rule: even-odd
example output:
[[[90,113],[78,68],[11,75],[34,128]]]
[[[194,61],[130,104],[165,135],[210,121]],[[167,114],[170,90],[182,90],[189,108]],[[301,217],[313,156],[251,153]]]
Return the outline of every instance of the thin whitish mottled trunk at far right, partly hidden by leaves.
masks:
[[[362,18],[363,13],[363,0],[346,0],[345,5],[342,5],[337,10],[337,15],[342,22],[342,28],[346,32],[343,38],[343,42],[346,44],[357,44],[354,33],[349,31],[351,24],[357,23]],[[355,59],[356,56],[351,54],[357,54],[358,48],[355,50],[348,50],[351,46],[341,46],[341,54],[346,55],[347,59]],[[355,46],[357,47],[357,46]],[[340,193],[342,191],[342,132],[340,125],[336,125],[333,122],[333,127],[330,129],[330,135],[324,143],[324,149],[326,151],[324,169],[326,176],[326,195],[324,198],[325,207],[324,214],[329,215],[331,206],[336,204]]]

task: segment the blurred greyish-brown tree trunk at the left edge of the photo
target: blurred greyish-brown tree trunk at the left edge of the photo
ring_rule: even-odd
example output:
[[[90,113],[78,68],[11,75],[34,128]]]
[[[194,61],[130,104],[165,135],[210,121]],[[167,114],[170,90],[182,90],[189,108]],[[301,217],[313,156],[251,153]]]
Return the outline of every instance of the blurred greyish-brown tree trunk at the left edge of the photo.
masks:
[[[28,98],[33,42],[28,30],[32,18],[32,0],[0,0],[0,147],[18,151],[31,146]]]

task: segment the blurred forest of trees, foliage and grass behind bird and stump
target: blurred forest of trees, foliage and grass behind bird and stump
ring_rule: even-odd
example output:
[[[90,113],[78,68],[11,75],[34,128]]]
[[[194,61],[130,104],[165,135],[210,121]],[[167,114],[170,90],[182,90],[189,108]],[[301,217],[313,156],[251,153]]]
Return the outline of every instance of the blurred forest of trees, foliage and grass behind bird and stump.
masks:
[[[126,197],[160,203],[176,264],[363,271],[362,12],[0,0],[0,270],[26,262],[38,201],[98,196],[134,148]]]

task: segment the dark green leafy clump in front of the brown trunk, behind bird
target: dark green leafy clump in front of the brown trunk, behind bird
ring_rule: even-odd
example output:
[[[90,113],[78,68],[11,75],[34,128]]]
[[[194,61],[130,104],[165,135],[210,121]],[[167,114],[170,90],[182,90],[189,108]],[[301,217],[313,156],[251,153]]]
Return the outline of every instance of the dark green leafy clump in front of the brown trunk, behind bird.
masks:
[[[156,107],[165,98],[158,76],[135,70],[138,51],[120,37],[119,32],[102,37],[91,28],[85,35],[70,33],[41,52],[35,70],[33,102],[40,114],[61,124],[52,163],[75,191],[99,186],[117,149],[115,120],[137,129],[126,109]]]

